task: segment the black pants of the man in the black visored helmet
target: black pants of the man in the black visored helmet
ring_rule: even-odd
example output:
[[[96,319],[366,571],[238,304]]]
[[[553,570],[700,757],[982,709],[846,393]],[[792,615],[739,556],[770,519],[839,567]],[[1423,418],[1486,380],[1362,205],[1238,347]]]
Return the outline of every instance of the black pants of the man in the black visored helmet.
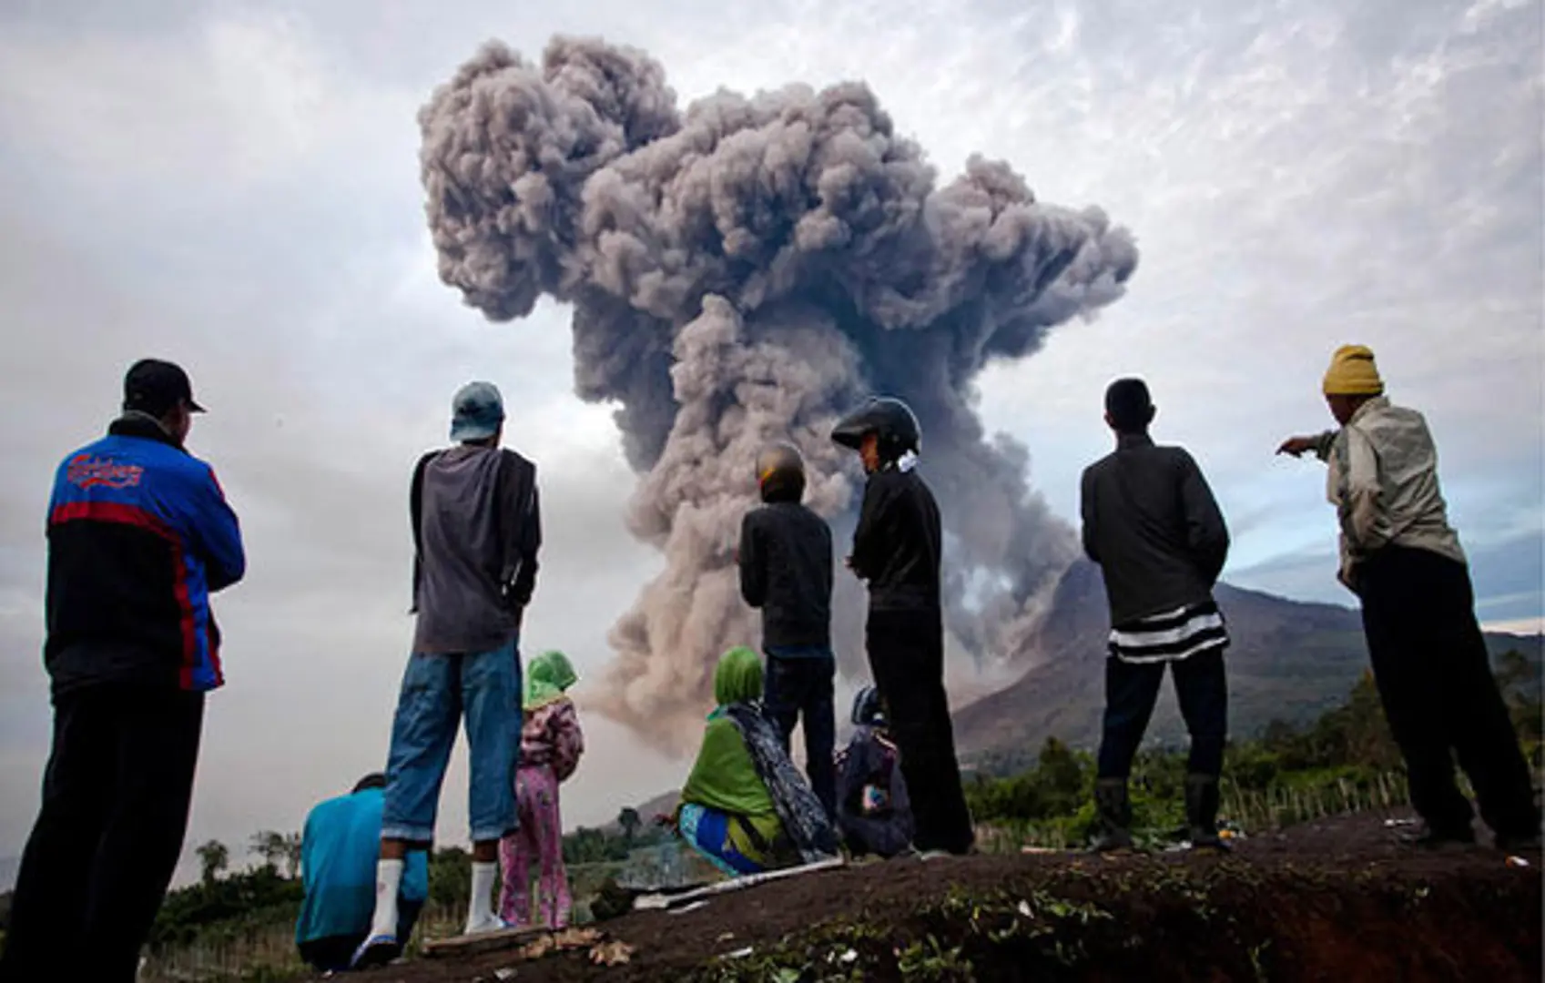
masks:
[[[890,736],[901,751],[916,824],[913,845],[964,853],[975,833],[944,694],[944,621],[938,611],[870,611],[864,634]]]

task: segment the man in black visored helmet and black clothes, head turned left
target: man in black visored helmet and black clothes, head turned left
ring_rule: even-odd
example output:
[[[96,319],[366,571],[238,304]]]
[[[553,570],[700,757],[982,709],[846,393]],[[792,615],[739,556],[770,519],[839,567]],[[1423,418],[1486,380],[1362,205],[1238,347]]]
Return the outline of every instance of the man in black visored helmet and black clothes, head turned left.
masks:
[[[839,420],[831,439],[859,451],[868,474],[848,567],[868,584],[865,643],[912,793],[913,844],[924,856],[967,853],[975,835],[944,692],[944,536],[916,471],[918,417],[899,399],[873,399]]]

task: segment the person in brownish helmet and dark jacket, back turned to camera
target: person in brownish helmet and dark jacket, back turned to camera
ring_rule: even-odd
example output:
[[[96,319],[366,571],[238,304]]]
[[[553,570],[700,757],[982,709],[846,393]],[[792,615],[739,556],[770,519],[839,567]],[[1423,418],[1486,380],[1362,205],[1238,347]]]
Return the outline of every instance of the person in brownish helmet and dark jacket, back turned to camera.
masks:
[[[805,774],[827,818],[836,818],[837,740],[831,685],[831,529],[806,509],[805,461],[788,444],[757,454],[762,507],[740,526],[740,594],[762,609],[766,652],[766,716],[788,750],[794,723],[805,720]]]

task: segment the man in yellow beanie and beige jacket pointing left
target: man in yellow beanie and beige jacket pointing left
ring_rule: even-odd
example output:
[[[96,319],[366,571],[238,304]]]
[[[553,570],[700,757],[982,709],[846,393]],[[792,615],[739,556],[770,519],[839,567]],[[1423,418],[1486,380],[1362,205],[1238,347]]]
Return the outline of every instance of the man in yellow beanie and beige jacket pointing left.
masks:
[[[1384,717],[1406,759],[1411,802],[1426,822],[1415,842],[1475,841],[1474,813],[1454,784],[1457,754],[1497,847],[1537,849],[1528,764],[1491,674],[1428,423],[1384,397],[1374,352],[1361,345],[1336,349],[1324,394],[1341,428],[1290,437],[1278,453],[1313,451],[1330,468],[1340,578],[1363,601]]]

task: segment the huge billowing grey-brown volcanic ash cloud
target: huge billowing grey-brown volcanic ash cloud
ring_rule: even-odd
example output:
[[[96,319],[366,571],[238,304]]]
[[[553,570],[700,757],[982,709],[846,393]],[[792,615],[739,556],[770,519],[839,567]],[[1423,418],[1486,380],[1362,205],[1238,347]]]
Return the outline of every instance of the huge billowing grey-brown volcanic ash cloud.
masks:
[[[811,507],[845,536],[861,479],[827,431],[870,393],[922,423],[952,634],[980,662],[1023,658],[1074,541],[972,383],[1122,295],[1125,229],[1035,201],[1004,162],[973,156],[939,187],[861,82],[683,111],[660,63],[595,39],[556,37],[541,65],[488,43],[419,122],[440,278],[496,321],[544,294],[573,306],[575,389],[618,406],[629,526],[666,558],[587,702],[660,750],[695,740],[714,660],[759,637],[734,566],[757,448],[797,444]],[[853,671],[862,589],[837,580]]]

